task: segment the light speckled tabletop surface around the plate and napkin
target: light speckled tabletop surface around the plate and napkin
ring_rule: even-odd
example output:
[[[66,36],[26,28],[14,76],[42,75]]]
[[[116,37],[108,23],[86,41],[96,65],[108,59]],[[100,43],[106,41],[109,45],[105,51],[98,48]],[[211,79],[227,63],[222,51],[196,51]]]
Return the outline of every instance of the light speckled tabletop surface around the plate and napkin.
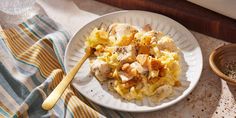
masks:
[[[64,26],[71,35],[99,15],[121,10],[93,0],[39,0],[38,4],[49,17]],[[179,103],[160,111],[132,113],[135,118],[236,117],[236,87],[219,79],[212,73],[208,64],[210,52],[227,42],[191,32],[203,52],[204,67],[198,85]]]

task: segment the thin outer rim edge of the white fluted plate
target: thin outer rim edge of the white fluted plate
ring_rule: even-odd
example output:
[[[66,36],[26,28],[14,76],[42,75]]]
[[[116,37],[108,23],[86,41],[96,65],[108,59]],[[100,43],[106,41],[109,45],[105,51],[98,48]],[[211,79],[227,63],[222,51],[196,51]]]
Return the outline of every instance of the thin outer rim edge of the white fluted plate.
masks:
[[[86,97],[86,95],[84,95],[83,93],[79,92],[79,90],[77,90],[77,89],[76,89],[76,91],[78,91],[82,96],[84,96],[85,99],[88,99],[88,100],[90,100],[90,101],[92,101],[92,102],[94,102],[94,103],[96,103],[96,104],[98,104],[98,105],[100,105],[100,106],[103,106],[103,107],[106,107],[106,108],[109,108],[109,109],[113,109],[113,110],[124,111],[124,112],[134,112],[134,113],[136,112],[136,113],[138,113],[138,112],[158,111],[158,110],[161,110],[161,109],[164,109],[164,108],[167,108],[167,107],[170,107],[170,106],[172,106],[172,105],[177,104],[178,102],[180,102],[180,101],[182,101],[184,98],[186,98],[186,97],[195,89],[195,87],[196,87],[197,84],[199,83],[199,80],[200,80],[200,78],[201,78],[202,71],[203,71],[203,55],[202,55],[202,49],[201,49],[201,47],[200,47],[200,45],[199,45],[197,39],[195,38],[195,36],[194,36],[185,26],[183,26],[183,25],[180,24],[179,22],[173,20],[172,18],[167,17],[167,16],[162,15],[162,14],[159,14],[159,13],[150,12],[150,11],[142,11],[142,10],[121,10],[121,11],[116,11],[116,12],[111,12],[111,13],[107,13],[107,14],[101,15],[101,16],[99,16],[99,17],[97,17],[97,18],[95,18],[95,19],[89,21],[88,23],[84,24],[81,28],[78,29],[78,31],[77,31],[76,33],[74,33],[74,35],[70,38],[70,40],[69,40],[69,42],[68,42],[68,44],[67,44],[67,46],[66,46],[65,54],[64,54],[64,61],[63,61],[63,62],[64,62],[64,67],[65,67],[65,72],[67,73],[67,72],[69,71],[69,70],[68,70],[68,62],[67,62],[67,59],[66,59],[66,58],[67,58],[67,55],[68,55],[68,53],[69,53],[69,52],[68,52],[69,46],[71,45],[72,40],[76,40],[76,39],[74,39],[75,36],[76,36],[82,29],[84,29],[87,25],[89,25],[89,24],[91,24],[91,23],[93,23],[93,22],[96,22],[96,20],[101,19],[101,18],[103,18],[103,17],[105,17],[105,16],[114,15],[114,14],[120,14],[120,13],[128,13],[128,12],[148,13],[148,14],[154,14],[154,15],[159,15],[159,16],[161,16],[161,17],[165,17],[165,18],[171,20],[172,22],[174,21],[174,23],[175,23],[176,25],[182,27],[182,28],[186,31],[187,34],[191,35],[191,36],[193,37],[193,39],[195,40],[196,45],[198,46],[199,54],[200,54],[200,57],[201,57],[201,58],[200,58],[201,64],[200,64],[200,66],[199,66],[199,67],[200,67],[200,72],[199,72],[199,75],[198,75],[198,77],[197,77],[198,80],[196,81],[196,83],[194,83],[194,84],[192,85],[191,90],[187,91],[186,94],[183,94],[179,99],[175,100],[175,101],[172,102],[171,104],[167,104],[167,105],[162,106],[162,107],[152,107],[152,108],[142,109],[142,110],[141,110],[141,109],[140,109],[140,110],[127,110],[127,109],[121,109],[121,108],[118,108],[118,107],[111,107],[111,106],[109,106],[109,105],[105,105],[105,104],[99,103],[99,102],[96,101],[96,100],[90,99],[89,97]],[[77,40],[78,40],[78,39],[77,39]],[[72,83],[71,83],[71,84],[72,84]],[[189,88],[189,87],[188,87],[188,88]],[[173,101],[173,100],[171,100],[171,101]],[[169,101],[169,102],[171,102],[171,101]],[[167,102],[167,103],[168,103],[168,102]]]

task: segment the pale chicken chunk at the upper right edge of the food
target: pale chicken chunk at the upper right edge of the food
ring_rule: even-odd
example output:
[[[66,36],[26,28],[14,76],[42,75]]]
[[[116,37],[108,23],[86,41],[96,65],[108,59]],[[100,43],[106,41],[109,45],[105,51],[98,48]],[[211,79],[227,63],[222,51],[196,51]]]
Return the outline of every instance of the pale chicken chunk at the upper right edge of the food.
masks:
[[[168,50],[170,52],[177,51],[174,41],[169,36],[164,36],[158,41],[158,48],[160,50]]]

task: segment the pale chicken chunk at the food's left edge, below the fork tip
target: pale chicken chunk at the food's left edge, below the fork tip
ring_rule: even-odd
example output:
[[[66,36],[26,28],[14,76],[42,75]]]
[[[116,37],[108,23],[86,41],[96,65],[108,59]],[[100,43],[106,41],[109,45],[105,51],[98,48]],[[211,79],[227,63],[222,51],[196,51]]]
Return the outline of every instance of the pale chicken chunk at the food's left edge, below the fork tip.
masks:
[[[106,62],[96,59],[91,66],[91,71],[99,81],[105,81],[111,73],[111,68]]]

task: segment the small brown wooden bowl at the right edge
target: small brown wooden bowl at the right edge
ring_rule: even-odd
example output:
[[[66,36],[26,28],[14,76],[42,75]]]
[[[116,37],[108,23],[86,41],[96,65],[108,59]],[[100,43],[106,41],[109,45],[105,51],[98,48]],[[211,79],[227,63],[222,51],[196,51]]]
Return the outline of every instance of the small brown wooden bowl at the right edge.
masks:
[[[228,69],[226,65],[236,64],[236,44],[216,48],[209,57],[209,64],[216,75],[229,84],[236,85],[236,78],[230,78],[225,74]]]

